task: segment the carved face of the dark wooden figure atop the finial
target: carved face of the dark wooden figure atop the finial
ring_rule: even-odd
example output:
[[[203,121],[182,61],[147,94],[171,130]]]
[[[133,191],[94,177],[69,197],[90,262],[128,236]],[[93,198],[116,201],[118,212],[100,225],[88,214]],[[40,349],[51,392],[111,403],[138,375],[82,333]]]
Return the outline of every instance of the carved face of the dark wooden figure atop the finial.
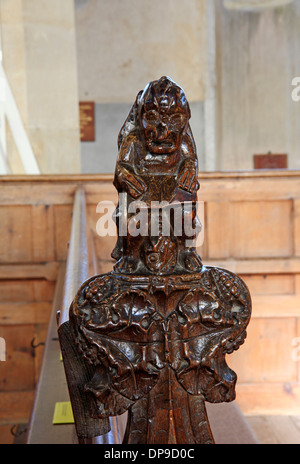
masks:
[[[145,95],[141,125],[146,148],[154,154],[172,154],[179,149],[189,120],[181,89],[162,78]]]

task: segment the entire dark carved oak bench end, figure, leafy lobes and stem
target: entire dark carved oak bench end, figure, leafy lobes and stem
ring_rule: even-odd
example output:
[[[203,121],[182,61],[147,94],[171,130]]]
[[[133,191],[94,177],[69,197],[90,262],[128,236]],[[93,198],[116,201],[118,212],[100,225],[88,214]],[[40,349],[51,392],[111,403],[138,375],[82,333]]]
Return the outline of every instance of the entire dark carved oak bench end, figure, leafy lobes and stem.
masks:
[[[137,95],[118,138],[116,263],[85,282],[70,308],[91,414],[128,411],[124,443],[213,443],[205,401],[235,399],[225,355],[244,342],[251,299],[237,275],[197,254],[189,119],[168,77]]]

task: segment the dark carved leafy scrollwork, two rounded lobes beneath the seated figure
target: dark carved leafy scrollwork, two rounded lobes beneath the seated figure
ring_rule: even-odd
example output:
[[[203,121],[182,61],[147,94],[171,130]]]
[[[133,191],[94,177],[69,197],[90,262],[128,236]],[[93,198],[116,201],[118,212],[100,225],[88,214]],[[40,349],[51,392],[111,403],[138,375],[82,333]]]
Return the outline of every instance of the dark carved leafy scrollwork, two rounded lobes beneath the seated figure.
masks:
[[[101,403],[100,417],[120,414],[147,395],[166,366],[188,394],[209,402],[235,397],[236,374],[225,354],[246,336],[251,314],[246,286],[217,268],[171,290],[170,278],[151,280],[136,289],[116,275],[97,277],[72,306],[78,349],[96,367],[86,391]]]

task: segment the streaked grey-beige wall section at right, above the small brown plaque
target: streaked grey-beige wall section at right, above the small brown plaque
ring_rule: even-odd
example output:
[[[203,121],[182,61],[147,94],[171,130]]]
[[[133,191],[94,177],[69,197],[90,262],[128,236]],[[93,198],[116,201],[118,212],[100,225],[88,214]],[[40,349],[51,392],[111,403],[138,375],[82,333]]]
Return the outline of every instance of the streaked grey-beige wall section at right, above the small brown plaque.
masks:
[[[287,153],[300,168],[300,1],[258,12],[216,3],[217,169],[253,169],[253,155]]]

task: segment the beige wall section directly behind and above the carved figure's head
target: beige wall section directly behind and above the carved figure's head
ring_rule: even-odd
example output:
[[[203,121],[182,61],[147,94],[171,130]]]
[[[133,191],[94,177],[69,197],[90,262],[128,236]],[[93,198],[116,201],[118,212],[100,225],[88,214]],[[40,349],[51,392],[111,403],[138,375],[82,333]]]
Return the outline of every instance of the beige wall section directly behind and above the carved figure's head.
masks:
[[[190,101],[205,93],[205,0],[78,0],[79,97],[124,103],[169,75]]]

